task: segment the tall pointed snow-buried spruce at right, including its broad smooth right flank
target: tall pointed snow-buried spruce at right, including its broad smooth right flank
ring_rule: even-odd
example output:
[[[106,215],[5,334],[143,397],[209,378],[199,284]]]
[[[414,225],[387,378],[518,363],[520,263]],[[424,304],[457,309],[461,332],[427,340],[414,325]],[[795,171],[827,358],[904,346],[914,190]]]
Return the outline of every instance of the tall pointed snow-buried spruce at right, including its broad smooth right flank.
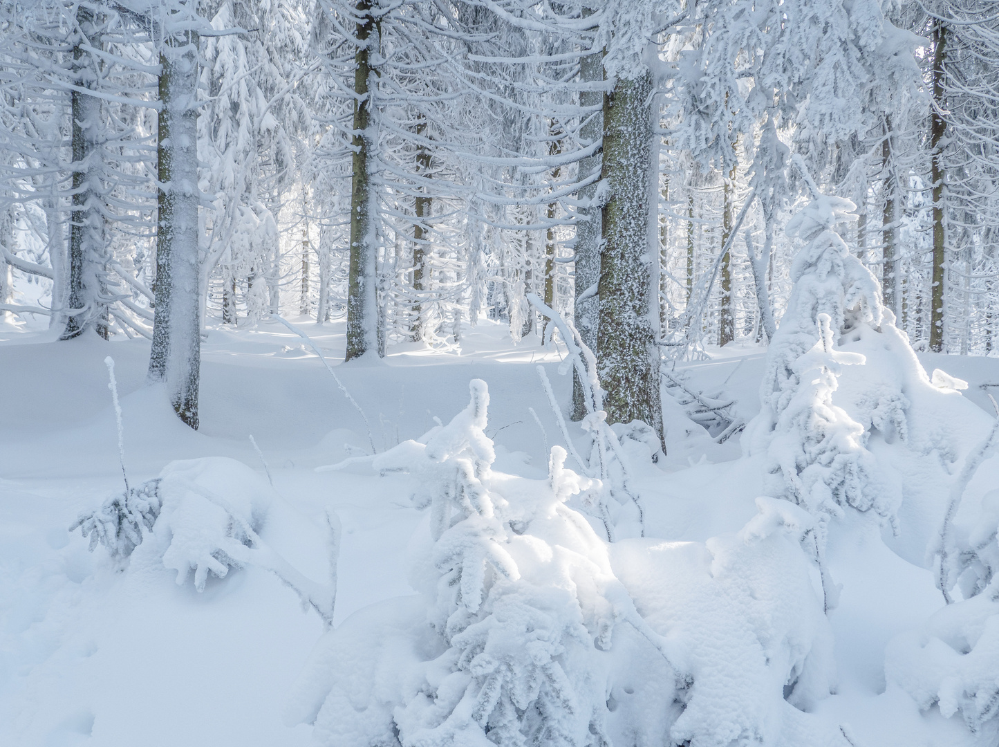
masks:
[[[820,544],[828,520],[850,506],[891,525],[894,549],[923,564],[955,464],[989,418],[952,377],[926,375],[876,278],[838,233],[854,210],[820,195],[787,225],[804,246],[743,445],[768,462],[770,495],[819,518]]]

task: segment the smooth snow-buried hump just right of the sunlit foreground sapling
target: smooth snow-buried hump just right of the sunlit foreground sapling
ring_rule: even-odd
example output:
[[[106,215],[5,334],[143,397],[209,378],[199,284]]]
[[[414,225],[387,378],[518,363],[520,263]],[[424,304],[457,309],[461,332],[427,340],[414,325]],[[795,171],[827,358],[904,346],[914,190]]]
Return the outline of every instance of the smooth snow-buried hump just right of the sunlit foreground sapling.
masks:
[[[847,744],[836,724],[807,713],[835,674],[821,591],[800,545],[813,520],[782,500],[756,505],[742,530],[705,543],[611,545],[614,572],[688,683],[671,741],[655,744]]]

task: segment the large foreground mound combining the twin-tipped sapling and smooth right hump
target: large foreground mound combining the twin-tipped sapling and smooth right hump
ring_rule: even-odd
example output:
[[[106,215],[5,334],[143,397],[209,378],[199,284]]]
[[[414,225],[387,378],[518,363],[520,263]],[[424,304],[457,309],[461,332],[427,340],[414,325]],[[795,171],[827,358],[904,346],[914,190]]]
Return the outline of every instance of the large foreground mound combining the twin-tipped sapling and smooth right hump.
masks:
[[[291,723],[338,746],[838,744],[785,700],[810,707],[831,682],[804,511],[761,499],[706,546],[607,545],[565,505],[592,480],[560,447],[546,480],[492,469],[489,394],[471,391],[447,426],[374,460],[409,472],[428,509],[411,547],[421,596],[330,632]]]

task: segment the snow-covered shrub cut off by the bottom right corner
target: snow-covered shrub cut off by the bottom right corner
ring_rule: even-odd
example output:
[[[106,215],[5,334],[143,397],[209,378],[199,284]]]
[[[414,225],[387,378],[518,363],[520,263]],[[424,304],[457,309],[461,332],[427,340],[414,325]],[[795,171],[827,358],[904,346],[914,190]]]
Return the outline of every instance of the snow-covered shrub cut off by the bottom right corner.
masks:
[[[921,710],[936,705],[945,718],[960,713],[976,744],[999,744],[999,585],[892,639],[885,676]]]

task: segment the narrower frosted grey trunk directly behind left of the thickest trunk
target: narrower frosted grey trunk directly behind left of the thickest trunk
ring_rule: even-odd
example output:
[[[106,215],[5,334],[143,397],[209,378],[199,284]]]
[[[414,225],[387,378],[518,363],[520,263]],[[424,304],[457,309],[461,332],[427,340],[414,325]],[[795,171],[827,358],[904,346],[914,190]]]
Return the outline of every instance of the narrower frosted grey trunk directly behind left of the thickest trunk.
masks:
[[[587,9],[588,10],[588,9]],[[584,11],[586,12],[586,11]],[[591,11],[589,11],[591,12]],[[602,55],[597,52],[585,55],[579,60],[579,80],[593,90],[579,92],[579,106],[587,109],[602,107],[603,93],[598,90],[603,83]],[[580,136],[585,143],[598,141],[603,135],[602,108],[588,116],[580,128]],[[599,152],[579,161],[579,178],[585,179],[600,173]],[[599,321],[599,298],[596,287],[600,280],[600,221],[599,205],[593,205],[596,196],[596,183],[579,190],[579,199],[585,207],[576,212],[575,224],[575,288],[573,321],[579,337],[592,350],[596,350],[596,329]],[[572,419],[581,420],[586,415],[586,398],[583,384],[578,374],[572,374]]]

